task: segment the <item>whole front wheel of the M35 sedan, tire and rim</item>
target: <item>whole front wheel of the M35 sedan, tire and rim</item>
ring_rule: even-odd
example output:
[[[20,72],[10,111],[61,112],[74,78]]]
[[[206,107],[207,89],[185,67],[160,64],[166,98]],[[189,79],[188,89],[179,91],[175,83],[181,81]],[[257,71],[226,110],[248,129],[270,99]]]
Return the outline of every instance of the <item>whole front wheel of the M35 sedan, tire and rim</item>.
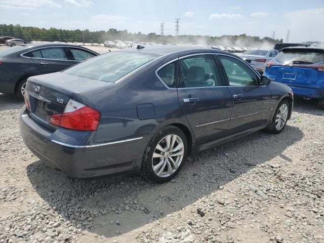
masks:
[[[271,119],[271,123],[269,126],[265,129],[267,133],[270,134],[279,134],[284,130],[286,127],[288,117],[290,112],[290,104],[288,100],[282,100],[277,108],[275,109],[275,112],[273,114],[273,117]]]

